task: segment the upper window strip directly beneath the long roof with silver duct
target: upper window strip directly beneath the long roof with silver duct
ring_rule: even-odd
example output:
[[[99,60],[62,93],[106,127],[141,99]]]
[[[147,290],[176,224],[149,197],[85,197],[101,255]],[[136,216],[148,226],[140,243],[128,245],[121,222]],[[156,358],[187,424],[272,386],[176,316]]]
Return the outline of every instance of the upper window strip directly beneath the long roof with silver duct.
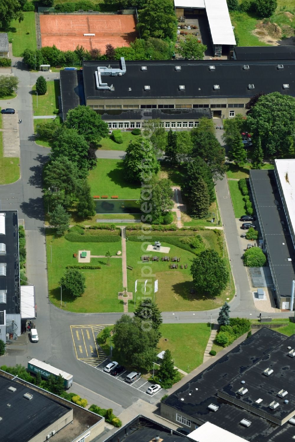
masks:
[[[211,108],[211,109],[222,109],[225,107],[240,107],[244,108],[245,104],[123,104],[123,109],[203,109],[203,108]],[[121,104],[95,104],[92,106],[93,109],[122,109]]]

